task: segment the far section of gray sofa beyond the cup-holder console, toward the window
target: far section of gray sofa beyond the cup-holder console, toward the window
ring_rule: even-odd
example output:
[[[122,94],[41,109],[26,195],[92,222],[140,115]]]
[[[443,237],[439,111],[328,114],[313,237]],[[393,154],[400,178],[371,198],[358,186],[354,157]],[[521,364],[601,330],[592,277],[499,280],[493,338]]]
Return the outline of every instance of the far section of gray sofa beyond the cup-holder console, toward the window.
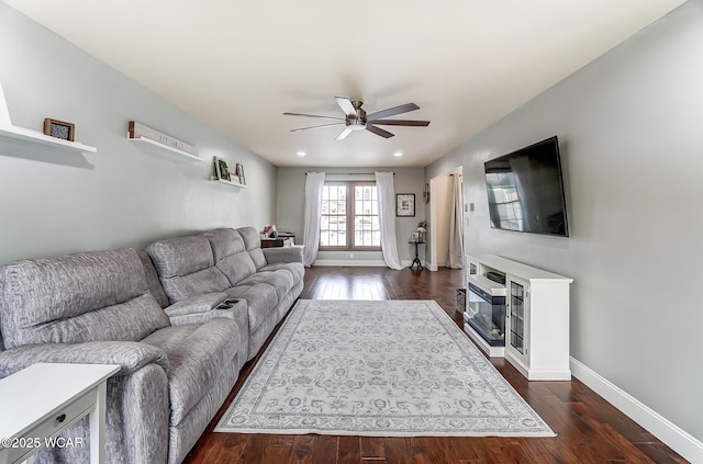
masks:
[[[149,245],[171,312],[193,298],[247,304],[248,357],[254,358],[303,288],[299,248],[261,248],[252,227],[214,229]],[[187,259],[183,259],[187,257]]]

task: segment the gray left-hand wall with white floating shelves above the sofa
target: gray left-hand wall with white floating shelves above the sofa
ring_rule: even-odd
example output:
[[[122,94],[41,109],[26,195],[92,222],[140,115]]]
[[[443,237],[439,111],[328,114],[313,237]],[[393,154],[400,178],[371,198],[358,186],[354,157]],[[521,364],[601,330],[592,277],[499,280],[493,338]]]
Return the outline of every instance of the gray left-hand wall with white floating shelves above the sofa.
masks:
[[[98,148],[66,155],[0,139],[0,264],[274,220],[274,166],[3,3],[0,83],[14,125],[68,121]],[[142,151],[126,140],[130,120],[197,146],[205,162]],[[243,163],[248,189],[209,182],[213,156]]]

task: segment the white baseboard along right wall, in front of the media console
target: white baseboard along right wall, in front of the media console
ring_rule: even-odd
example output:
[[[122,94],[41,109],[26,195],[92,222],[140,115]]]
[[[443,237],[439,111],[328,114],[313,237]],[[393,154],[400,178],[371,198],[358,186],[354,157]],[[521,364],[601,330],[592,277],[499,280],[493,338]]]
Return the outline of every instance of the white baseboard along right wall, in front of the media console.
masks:
[[[580,361],[570,359],[571,373],[593,392],[639,423],[692,463],[703,463],[703,442],[639,401]]]

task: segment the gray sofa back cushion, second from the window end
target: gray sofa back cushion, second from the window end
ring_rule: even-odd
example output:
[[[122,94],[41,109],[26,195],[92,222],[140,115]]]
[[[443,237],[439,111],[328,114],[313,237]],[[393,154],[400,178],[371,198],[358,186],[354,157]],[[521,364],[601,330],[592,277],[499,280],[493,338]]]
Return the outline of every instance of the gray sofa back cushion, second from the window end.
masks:
[[[246,251],[244,239],[235,229],[214,229],[202,234],[210,240],[215,265],[234,286],[256,272],[256,265]],[[258,237],[258,236],[257,236]]]

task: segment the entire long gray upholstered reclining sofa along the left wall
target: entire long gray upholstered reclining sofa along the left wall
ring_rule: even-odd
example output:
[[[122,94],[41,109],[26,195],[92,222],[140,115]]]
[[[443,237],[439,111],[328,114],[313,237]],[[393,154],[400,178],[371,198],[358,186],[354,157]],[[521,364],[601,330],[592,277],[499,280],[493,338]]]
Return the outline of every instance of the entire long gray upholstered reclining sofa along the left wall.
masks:
[[[0,268],[0,378],[36,362],[118,364],[107,461],[183,461],[303,286],[298,248],[254,228]],[[65,432],[85,437],[83,419]],[[35,462],[89,462],[88,448]]]

